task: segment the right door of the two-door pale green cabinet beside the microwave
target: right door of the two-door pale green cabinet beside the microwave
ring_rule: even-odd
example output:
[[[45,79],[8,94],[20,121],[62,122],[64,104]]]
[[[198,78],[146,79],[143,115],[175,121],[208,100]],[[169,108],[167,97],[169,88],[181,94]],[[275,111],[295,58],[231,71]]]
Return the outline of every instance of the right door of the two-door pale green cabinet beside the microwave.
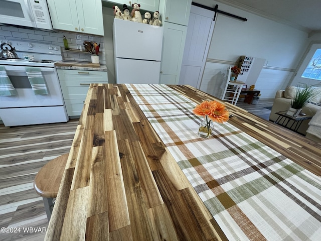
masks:
[[[100,0],[77,0],[79,32],[104,35],[102,6]]]

